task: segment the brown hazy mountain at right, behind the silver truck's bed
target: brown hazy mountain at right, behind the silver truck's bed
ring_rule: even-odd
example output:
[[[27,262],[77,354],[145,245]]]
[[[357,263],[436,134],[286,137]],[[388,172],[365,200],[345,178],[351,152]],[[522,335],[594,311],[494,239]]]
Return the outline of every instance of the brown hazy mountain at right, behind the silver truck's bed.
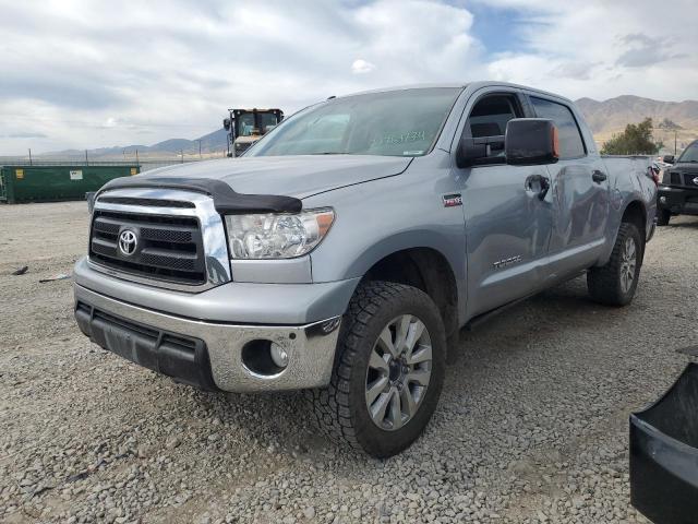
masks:
[[[628,123],[638,123],[648,117],[654,123],[654,139],[664,142],[672,152],[674,133],[678,148],[698,138],[698,100],[661,102],[623,95],[603,102],[580,98],[576,104],[598,143],[623,132]]]

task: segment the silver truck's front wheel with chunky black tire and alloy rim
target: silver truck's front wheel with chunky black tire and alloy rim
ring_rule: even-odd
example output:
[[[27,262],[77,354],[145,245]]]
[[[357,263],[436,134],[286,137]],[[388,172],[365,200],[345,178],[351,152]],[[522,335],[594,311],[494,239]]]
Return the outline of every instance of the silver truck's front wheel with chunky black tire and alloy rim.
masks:
[[[329,386],[308,391],[315,418],[335,442],[378,458],[395,455],[417,440],[438,403],[446,358],[438,309],[414,287],[369,282],[354,293],[340,330]],[[412,350],[395,344],[405,347],[396,358],[402,333],[416,340]]]

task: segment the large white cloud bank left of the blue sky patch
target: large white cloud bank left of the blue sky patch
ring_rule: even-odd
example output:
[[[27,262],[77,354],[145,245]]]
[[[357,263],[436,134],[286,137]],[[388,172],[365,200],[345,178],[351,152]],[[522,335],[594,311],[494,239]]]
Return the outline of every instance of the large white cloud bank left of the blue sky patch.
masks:
[[[0,134],[47,136],[2,140],[0,155],[194,138],[229,107],[291,114],[479,68],[471,14],[437,0],[0,0],[0,12],[12,21],[0,41]]]

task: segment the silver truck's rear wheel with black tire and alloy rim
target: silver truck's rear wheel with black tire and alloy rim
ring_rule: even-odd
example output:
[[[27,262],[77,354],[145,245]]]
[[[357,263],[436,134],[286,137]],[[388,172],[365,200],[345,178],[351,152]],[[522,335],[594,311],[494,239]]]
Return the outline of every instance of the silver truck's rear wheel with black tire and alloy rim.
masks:
[[[640,276],[645,242],[635,224],[621,224],[611,260],[587,273],[591,298],[607,306],[626,306],[633,301]]]

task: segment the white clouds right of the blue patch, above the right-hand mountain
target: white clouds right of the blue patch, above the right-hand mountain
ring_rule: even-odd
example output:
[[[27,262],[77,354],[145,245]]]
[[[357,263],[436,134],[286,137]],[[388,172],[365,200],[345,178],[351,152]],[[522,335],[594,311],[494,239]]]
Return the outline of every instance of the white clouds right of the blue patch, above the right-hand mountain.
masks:
[[[521,50],[488,64],[500,80],[528,83],[570,98],[631,94],[658,99],[696,98],[698,69],[691,50],[698,33],[677,32],[698,14],[693,0],[673,0],[658,10],[652,0],[488,0],[520,10]],[[681,79],[669,82],[669,79]]]

